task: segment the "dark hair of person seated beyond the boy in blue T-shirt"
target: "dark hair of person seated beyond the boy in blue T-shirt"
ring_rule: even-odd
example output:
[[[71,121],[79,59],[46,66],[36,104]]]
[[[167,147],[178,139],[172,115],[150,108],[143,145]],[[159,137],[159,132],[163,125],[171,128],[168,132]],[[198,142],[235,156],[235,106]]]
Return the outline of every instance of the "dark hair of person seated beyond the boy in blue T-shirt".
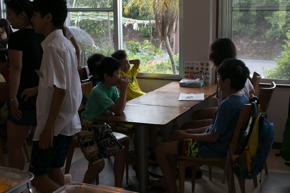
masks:
[[[224,59],[236,58],[236,56],[236,47],[229,38],[217,38],[210,45],[209,60],[215,67],[218,67]]]

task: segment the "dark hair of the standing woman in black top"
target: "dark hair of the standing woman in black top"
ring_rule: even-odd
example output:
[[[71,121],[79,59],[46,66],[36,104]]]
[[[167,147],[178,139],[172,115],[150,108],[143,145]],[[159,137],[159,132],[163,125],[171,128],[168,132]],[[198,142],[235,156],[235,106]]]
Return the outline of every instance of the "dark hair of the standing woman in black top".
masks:
[[[15,11],[16,15],[19,15],[21,12],[27,14],[29,20],[32,18],[33,9],[31,6],[31,1],[29,0],[4,0],[6,7]]]

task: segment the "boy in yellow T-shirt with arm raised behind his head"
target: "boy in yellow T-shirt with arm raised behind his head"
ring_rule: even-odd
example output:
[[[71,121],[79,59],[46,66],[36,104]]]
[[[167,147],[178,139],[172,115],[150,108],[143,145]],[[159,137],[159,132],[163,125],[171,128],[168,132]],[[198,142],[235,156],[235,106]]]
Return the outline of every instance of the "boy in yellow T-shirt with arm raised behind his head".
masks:
[[[126,94],[126,102],[130,101],[132,99],[135,99],[143,94],[146,94],[143,92],[139,85],[136,78],[136,75],[140,71],[139,65],[140,60],[139,59],[133,59],[129,60],[128,56],[126,54],[125,50],[117,50],[111,55],[113,58],[116,58],[119,60],[122,64],[121,66],[121,76],[126,76],[129,79],[129,84],[127,87],[127,94]],[[134,64],[132,68],[130,69],[130,64]],[[128,125],[126,126],[128,127]],[[157,163],[156,157],[155,157],[155,147],[158,145],[157,142],[157,128],[156,127],[149,127],[149,139],[152,145],[153,150],[150,153],[149,159],[151,159],[153,162]],[[134,136],[134,147],[138,147],[138,133],[136,130],[135,136]],[[138,172],[138,148],[135,148],[135,162],[133,164],[133,170],[136,172],[136,176],[138,178],[139,172]]]

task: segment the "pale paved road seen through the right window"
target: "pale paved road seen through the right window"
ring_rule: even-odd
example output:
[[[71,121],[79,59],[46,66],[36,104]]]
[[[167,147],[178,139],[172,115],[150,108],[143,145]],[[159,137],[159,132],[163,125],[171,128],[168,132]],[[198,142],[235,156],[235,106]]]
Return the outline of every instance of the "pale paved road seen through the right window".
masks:
[[[262,78],[264,77],[264,71],[263,68],[266,70],[270,70],[271,68],[274,68],[277,64],[275,60],[259,60],[259,59],[246,59],[246,58],[238,58],[245,62],[246,66],[250,70],[250,74],[252,74],[257,71],[260,74],[262,74]]]

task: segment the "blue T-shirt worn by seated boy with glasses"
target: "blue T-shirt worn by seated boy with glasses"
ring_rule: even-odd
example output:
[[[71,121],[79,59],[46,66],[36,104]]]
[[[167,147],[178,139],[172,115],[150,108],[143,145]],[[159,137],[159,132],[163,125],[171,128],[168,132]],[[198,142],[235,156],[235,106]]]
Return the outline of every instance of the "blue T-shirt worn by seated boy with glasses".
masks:
[[[249,103],[248,98],[231,95],[217,107],[214,113],[213,124],[204,133],[211,131],[221,134],[216,142],[199,142],[198,152],[202,158],[225,156],[227,147],[234,135],[239,115],[244,104]]]

